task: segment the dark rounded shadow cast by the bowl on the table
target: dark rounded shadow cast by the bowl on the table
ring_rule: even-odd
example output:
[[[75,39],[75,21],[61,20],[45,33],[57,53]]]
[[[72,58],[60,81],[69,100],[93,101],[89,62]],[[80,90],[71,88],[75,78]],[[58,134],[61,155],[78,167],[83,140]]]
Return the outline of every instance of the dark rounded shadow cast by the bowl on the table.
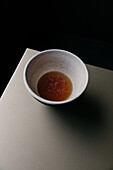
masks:
[[[102,103],[95,96],[83,93],[78,99],[52,109],[66,126],[88,136],[100,134],[106,127]]]

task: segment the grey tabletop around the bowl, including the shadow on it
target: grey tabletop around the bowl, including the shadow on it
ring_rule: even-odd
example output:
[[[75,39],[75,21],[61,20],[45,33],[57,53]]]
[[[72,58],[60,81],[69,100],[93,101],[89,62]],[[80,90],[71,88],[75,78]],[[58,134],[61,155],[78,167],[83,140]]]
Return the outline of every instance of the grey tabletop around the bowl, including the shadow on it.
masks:
[[[0,170],[113,170],[113,71],[87,65],[74,102],[46,106],[23,82],[26,49],[0,99]]]

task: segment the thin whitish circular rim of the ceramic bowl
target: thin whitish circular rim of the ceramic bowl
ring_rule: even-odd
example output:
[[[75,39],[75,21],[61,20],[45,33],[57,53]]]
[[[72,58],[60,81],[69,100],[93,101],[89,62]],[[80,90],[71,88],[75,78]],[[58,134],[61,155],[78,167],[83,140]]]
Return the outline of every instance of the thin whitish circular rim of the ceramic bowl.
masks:
[[[74,98],[68,98],[66,100],[63,100],[63,101],[51,101],[51,100],[47,100],[47,99],[44,99],[40,96],[38,96],[35,92],[33,92],[30,88],[30,86],[28,85],[27,83],[27,78],[26,78],[26,71],[27,71],[27,68],[30,64],[30,62],[38,57],[40,54],[43,54],[43,53],[46,53],[46,52],[51,52],[51,51],[57,51],[57,52],[65,52],[69,55],[72,55],[73,57],[75,57],[77,60],[79,60],[79,62],[82,64],[82,66],[84,67],[84,70],[85,70],[85,75],[86,75],[86,81],[85,81],[85,84],[84,84],[84,87],[83,89],[81,90],[81,92],[75,96]],[[24,71],[23,71],[23,80],[24,80],[24,84],[25,84],[25,87],[27,88],[28,92],[38,101],[40,101],[41,103],[44,103],[44,104],[48,104],[48,105],[60,105],[60,104],[65,104],[65,103],[69,103],[73,100],[75,100],[76,98],[78,98],[86,89],[87,85],[88,85],[88,79],[89,79],[89,74],[88,74],[88,69],[85,65],[85,63],[78,57],[76,56],[75,54],[69,52],[69,51],[66,51],[66,50],[62,50],[62,49],[48,49],[48,50],[44,50],[44,51],[40,51],[40,52],[37,52],[35,55],[33,55],[29,60],[28,62],[26,63],[25,67],[24,67]]]

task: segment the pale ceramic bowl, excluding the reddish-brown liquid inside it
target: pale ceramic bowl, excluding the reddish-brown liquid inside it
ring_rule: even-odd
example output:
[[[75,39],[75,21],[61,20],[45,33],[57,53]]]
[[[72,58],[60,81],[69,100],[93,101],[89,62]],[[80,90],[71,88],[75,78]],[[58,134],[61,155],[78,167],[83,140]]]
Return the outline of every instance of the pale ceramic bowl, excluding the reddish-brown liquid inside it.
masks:
[[[64,101],[46,100],[38,94],[37,84],[47,72],[58,71],[67,75],[72,82],[72,93]],[[29,93],[38,101],[48,105],[68,103],[78,98],[88,84],[88,71],[83,61],[76,55],[59,49],[45,50],[33,56],[24,69],[24,83]]]

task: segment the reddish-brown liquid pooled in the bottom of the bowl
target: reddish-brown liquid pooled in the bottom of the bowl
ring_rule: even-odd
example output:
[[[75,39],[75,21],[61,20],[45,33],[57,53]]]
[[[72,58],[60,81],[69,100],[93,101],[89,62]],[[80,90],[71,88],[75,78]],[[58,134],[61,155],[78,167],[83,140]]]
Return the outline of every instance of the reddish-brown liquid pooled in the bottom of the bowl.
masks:
[[[63,73],[48,72],[38,81],[39,95],[51,101],[66,100],[72,92],[71,80]]]

